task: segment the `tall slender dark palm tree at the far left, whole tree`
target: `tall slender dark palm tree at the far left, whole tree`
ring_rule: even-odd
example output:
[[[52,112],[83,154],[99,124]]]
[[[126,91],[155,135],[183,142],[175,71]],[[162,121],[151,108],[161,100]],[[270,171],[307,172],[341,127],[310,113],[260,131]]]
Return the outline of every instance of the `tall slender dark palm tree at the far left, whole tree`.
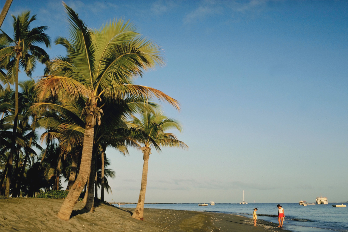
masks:
[[[25,73],[31,77],[31,74],[36,66],[36,61],[46,63],[49,56],[46,51],[35,43],[44,43],[46,47],[50,47],[50,38],[44,33],[47,26],[34,27],[30,30],[30,23],[36,18],[33,15],[31,18],[30,11],[24,11],[17,18],[13,16],[14,37],[9,37],[1,30],[1,68],[7,70],[8,76],[13,76],[15,79],[15,113],[13,138],[11,141],[11,151],[8,158],[8,175],[6,182],[5,196],[9,197],[10,182],[12,173],[13,153],[15,149],[16,128],[18,123],[18,72],[19,66],[23,67]]]

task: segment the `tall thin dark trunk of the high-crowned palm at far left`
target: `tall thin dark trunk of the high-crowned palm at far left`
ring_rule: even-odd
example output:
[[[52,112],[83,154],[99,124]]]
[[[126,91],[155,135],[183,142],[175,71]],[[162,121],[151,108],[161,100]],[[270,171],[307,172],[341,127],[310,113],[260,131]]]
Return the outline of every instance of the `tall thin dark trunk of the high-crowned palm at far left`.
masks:
[[[12,177],[12,162],[13,162],[13,153],[15,151],[16,145],[16,133],[17,133],[17,123],[18,123],[18,72],[19,72],[19,58],[21,57],[22,51],[17,51],[16,55],[16,74],[15,74],[15,119],[13,122],[13,137],[11,141],[11,151],[8,157],[7,162],[7,179],[6,179],[6,190],[5,197],[10,197],[10,185]]]

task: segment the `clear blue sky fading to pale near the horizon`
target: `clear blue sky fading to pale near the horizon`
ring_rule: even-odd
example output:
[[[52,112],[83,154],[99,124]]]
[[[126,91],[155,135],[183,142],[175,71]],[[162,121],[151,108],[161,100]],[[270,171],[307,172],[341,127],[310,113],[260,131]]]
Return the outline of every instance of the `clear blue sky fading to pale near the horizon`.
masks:
[[[243,190],[249,202],[347,201],[347,1],[66,3],[89,27],[129,19],[164,49],[166,66],[136,83],[181,103],[163,108],[190,148],[152,152],[145,202],[240,202]],[[68,36],[55,0],[14,0],[2,30],[23,10]],[[141,152],[107,155],[117,177],[106,200],[136,202]]]

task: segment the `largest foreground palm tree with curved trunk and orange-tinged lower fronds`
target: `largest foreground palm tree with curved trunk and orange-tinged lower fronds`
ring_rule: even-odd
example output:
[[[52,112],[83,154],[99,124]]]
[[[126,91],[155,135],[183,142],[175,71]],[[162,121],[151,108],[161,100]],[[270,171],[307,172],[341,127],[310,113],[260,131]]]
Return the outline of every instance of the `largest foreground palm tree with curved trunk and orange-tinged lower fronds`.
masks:
[[[139,38],[128,22],[109,22],[99,30],[90,30],[78,14],[65,5],[69,16],[70,39],[58,38],[56,44],[67,49],[66,58],[55,58],[49,75],[37,85],[40,98],[58,96],[85,99],[82,112],[85,122],[79,174],[70,189],[58,217],[68,221],[84,188],[91,168],[94,126],[100,124],[101,98],[117,101],[126,96],[157,97],[179,109],[177,101],[163,92],[132,85],[132,78],[143,70],[162,65],[160,48]]]

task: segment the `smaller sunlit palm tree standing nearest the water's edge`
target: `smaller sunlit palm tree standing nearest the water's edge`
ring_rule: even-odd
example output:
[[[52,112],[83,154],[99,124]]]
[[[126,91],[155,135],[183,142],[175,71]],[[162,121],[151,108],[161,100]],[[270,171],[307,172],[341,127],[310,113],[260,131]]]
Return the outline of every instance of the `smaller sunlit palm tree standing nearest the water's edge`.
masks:
[[[165,133],[165,131],[169,129],[177,129],[181,132],[182,127],[178,121],[176,121],[175,119],[167,118],[161,112],[156,112],[154,114],[151,112],[143,112],[140,119],[133,116],[132,124],[134,127],[144,130],[145,133],[159,146],[179,147],[182,149],[188,148],[188,146],[184,142],[179,141],[174,134]],[[144,160],[143,174],[141,178],[139,200],[132,215],[133,218],[138,220],[144,219],[145,192],[148,179],[148,166],[151,154],[151,145],[153,145],[153,143],[148,140],[145,141],[144,146],[141,148]]]

